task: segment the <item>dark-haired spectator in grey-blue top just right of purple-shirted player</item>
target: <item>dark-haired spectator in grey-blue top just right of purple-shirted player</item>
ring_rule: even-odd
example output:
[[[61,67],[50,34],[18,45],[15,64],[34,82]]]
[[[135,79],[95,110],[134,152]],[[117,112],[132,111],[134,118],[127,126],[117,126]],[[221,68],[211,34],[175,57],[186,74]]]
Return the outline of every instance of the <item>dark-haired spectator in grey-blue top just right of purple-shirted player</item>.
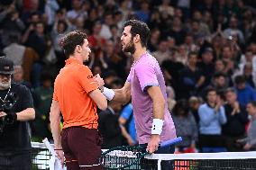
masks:
[[[198,137],[197,123],[193,114],[188,110],[187,101],[179,100],[172,113],[177,136],[182,138],[182,141],[176,145],[178,151],[186,152],[187,148],[191,151],[195,150]]]

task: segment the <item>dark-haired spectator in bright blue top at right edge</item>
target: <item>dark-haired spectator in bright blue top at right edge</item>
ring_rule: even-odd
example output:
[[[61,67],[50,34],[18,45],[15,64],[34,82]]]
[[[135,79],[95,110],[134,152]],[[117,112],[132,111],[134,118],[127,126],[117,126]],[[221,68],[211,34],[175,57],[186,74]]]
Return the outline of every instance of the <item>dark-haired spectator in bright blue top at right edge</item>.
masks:
[[[256,101],[256,92],[251,85],[246,84],[244,76],[235,76],[234,83],[237,100],[242,106],[246,106],[250,101]]]

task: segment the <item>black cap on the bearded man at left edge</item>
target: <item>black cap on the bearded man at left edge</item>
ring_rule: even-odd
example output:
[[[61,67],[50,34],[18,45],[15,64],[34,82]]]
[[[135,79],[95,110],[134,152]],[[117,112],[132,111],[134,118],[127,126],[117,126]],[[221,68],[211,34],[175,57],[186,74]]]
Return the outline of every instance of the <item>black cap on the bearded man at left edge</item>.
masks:
[[[14,74],[14,62],[11,59],[6,58],[5,56],[0,57],[0,74]]]

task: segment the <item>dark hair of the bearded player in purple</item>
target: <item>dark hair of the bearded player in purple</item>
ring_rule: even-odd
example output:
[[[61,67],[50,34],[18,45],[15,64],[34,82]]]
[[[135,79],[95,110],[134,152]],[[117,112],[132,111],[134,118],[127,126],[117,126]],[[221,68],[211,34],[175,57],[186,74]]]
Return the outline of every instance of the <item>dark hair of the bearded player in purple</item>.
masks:
[[[123,27],[132,26],[131,33],[132,38],[139,34],[141,37],[142,47],[146,47],[148,40],[151,36],[151,31],[148,25],[145,22],[141,22],[139,20],[129,20],[123,24]]]

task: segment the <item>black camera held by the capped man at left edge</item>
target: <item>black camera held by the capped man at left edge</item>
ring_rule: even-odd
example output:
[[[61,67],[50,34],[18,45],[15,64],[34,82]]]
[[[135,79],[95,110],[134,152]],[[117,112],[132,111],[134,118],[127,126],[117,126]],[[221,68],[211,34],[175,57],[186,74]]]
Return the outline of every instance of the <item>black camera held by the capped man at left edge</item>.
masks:
[[[0,112],[5,112],[7,114],[6,116],[0,118],[0,133],[4,131],[6,125],[14,123],[14,114],[12,114],[11,111],[17,100],[17,95],[11,92],[6,94],[6,98],[4,101],[0,101]]]

